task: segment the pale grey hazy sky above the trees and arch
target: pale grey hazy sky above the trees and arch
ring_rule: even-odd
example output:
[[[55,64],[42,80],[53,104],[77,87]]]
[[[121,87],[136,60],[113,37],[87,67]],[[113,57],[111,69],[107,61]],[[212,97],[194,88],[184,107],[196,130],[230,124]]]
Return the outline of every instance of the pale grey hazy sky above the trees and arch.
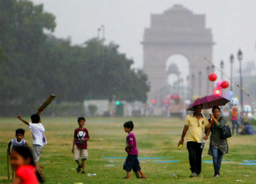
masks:
[[[256,1],[254,0],[32,0],[56,17],[57,37],[71,36],[72,44],[81,44],[97,36],[97,28],[105,26],[106,41],[120,45],[120,52],[134,59],[134,67],[143,67],[144,28],[150,27],[150,14],[162,14],[181,4],[194,14],[206,14],[206,27],[212,29],[213,60],[221,59],[229,71],[229,57],[241,48],[243,61],[255,61]]]

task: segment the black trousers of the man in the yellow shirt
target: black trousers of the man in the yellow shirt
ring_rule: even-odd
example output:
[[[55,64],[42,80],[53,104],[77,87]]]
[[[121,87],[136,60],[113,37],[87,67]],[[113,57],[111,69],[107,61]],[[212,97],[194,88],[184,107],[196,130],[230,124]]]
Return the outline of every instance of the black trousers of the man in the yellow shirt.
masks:
[[[201,148],[202,143],[189,141],[187,142],[187,150],[189,151],[189,163],[190,170],[192,173],[200,174],[201,173],[201,158],[202,151]]]

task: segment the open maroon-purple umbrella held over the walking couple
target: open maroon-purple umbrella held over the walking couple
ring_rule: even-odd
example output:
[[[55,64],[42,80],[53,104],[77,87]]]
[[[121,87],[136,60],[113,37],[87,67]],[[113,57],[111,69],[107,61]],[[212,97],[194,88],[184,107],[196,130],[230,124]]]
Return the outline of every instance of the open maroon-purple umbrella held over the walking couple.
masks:
[[[206,95],[205,97],[199,97],[198,99],[196,99],[192,104],[190,104],[189,107],[187,107],[186,110],[193,111],[194,107],[198,106],[199,104],[203,105],[202,109],[211,109],[213,106],[224,106],[228,102],[229,100],[225,99],[220,95]]]

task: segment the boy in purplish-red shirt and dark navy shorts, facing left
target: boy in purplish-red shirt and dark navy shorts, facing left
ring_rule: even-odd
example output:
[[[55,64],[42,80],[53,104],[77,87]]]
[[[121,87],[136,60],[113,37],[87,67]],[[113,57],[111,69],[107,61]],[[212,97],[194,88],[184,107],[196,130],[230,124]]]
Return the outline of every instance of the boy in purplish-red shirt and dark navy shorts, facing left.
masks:
[[[131,169],[135,173],[138,178],[147,178],[146,175],[140,169],[140,163],[138,162],[138,149],[136,144],[135,135],[131,132],[133,129],[132,121],[128,121],[124,123],[124,130],[128,133],[127,135],[127,147],[125,147],[125,151],[128,153],[128,156],[125,160],[123,169],[126,170],[127,176],[125,179],[130,179]],[[141,176],[140,176],[141,175]]]

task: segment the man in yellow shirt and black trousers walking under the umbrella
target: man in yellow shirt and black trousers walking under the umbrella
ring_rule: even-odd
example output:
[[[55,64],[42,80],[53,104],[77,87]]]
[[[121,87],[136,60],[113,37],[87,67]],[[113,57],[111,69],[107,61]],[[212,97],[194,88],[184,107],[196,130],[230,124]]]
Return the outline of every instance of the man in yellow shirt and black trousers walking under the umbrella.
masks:
[[[208,139],[208,134],[203,138],[205,128],[209,128],[208,119],[202,115],[202,105],[195,106],[193,113],[186,116],[185,125],[178,145],[183,144],[184,137],[187,134],[187,150],[189,151],[189,163],[192,175],[190,177],[200,176],[201,158],[202,158],[202,141]],[[207,127],[206,127],[207,126]]]

